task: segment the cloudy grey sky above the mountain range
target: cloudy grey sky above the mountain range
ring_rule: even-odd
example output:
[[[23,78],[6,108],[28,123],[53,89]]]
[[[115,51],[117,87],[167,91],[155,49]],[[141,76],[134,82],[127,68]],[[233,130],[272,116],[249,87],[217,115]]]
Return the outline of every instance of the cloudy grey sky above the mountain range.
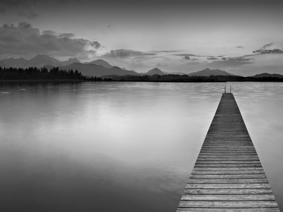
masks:
[[[0,59],[283,74],[282,11],[281,0],[0,0]]]

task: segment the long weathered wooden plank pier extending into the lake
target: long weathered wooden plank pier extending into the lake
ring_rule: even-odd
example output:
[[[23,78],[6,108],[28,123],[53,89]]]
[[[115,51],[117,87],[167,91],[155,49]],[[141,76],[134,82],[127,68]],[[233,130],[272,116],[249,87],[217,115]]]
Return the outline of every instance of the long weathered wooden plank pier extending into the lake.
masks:
[[[223,93],[177,212],[280,211],[237,102]]]

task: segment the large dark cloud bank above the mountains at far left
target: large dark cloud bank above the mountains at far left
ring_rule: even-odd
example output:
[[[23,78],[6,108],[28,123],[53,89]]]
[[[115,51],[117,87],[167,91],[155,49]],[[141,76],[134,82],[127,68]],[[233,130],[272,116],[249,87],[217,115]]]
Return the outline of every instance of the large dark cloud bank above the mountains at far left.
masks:
[[[4,24],[0,27],[0,55],[37,55],[49,56],[87,55],[95,50],[99,42],[83,38],[73,38],[73,33],[56,33],[32,27],[27,22],[20,22],[17,27]]]

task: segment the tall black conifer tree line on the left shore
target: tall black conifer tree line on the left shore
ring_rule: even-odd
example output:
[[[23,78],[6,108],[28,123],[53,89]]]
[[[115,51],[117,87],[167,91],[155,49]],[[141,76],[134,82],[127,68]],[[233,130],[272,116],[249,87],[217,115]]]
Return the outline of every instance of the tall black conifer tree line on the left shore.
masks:
[[[84,80],[85,77],[78,70],[62,70],[54,67],[47,68],[2,68],[0,67],[0,80]]]

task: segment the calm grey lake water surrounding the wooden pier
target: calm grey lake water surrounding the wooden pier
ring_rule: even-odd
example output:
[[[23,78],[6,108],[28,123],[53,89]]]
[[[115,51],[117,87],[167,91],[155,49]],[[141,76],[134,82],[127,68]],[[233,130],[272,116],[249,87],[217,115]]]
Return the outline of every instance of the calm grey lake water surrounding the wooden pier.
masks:
[[[0,211],[175,211],[232,86],[283,206],[283,83],[0,85]]]

